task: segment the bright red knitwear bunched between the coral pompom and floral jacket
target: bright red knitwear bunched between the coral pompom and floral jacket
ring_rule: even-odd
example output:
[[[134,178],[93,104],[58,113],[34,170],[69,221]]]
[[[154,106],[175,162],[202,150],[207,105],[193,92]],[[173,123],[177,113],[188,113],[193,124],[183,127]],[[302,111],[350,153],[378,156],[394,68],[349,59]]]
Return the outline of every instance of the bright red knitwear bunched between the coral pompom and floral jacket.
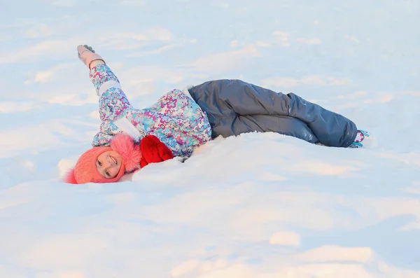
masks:
[[[174,158],[172,151],[154,135],[147,135],[141,139],[140,150],[142,155],[140,160],[141,168],[149,163],[157,163]]]

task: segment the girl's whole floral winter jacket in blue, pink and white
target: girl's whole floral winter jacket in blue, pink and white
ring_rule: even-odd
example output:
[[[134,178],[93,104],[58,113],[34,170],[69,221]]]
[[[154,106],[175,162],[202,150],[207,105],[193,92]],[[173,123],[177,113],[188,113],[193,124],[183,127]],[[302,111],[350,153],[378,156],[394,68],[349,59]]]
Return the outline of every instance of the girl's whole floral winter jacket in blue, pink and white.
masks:
[[[188,157],[195,148],[211,139],[209,120],[188,92],[175,89],[147,109],[134,109],[118,78],[106,64],[93,67],[90,79],[99,95],[102,120],[92,146],[108,146],[120,132],[137,139],[152,134],[171,149],[174,156]]]

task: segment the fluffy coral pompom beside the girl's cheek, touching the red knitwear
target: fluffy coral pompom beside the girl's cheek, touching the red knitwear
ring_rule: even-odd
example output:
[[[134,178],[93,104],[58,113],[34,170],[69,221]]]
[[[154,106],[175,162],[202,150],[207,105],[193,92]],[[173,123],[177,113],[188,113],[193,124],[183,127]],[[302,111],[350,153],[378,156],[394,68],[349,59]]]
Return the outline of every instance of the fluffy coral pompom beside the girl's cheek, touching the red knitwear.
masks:
[[[121,155],[126,172],[132,172],[140,165],[140,146],[134,143],[130,135],[120,133],[111,141],[111,148]]]

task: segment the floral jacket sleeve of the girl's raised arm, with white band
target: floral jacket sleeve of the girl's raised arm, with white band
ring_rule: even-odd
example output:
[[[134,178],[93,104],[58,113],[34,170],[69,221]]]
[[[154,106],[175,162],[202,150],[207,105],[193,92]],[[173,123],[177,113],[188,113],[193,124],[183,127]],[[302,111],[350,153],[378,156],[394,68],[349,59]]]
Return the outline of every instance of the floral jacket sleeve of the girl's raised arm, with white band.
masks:
[[[99,96],[99,117],[102,123],[117,120],[131,108],[120,81],[106,64],[99,64],[90,70],[90,80]]]

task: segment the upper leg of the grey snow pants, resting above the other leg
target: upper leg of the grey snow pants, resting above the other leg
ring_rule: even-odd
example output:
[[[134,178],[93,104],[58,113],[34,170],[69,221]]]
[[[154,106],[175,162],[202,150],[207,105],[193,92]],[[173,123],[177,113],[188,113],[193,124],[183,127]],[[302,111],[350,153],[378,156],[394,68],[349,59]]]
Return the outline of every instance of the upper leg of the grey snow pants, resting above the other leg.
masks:
[[[229,117],[233,121],[237,116],[296,118],[309,127],[321,144],[335,147],[350,146],[357,134],[356,125],[348,118],[328,111],[318,104],[307,102],[293,93],[285,95],[239,80],[209,81],[193,87],[190,92],[204,111],[227,125]],[[263,127],[264,131],[279,128],[267,126],[265,123],[258,125]],[[294,125],[281,127],[280,130],[286,128],[293,134],[299,134],[297,130],[302,130],[300,125],[296,126],[297,130],[293,130]]]

